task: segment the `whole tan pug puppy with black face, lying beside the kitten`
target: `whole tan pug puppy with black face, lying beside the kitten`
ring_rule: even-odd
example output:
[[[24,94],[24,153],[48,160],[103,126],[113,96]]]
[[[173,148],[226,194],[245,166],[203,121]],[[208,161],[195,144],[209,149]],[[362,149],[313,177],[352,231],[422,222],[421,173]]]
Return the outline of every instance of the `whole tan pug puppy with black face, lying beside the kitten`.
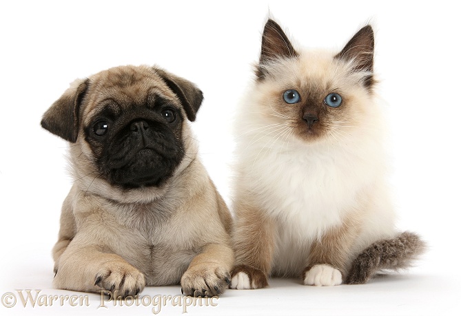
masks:
[[[74,178],[52,251],[55,288],[126,297],[228,287],[232,217],[188,122],[202,100],[158,67],[123,66],[75,81],[45,112],[42,127],[71,143]]]

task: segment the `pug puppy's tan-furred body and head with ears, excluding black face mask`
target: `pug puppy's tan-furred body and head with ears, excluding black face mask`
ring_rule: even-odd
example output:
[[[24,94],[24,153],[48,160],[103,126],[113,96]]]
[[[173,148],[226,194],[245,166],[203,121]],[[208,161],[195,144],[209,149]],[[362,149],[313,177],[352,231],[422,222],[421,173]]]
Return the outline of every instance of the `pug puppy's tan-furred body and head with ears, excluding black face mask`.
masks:
[[[178,283],[185,295],[218,295],[227,288],[234,264],[232,217],[196,156],[186,119],[185,156],[161,185],[127,189],[99,176],[97,148],[85,128],[112,101],[125,112],[152,94],[181,107],[189,120],[201,103],[200,90],[183,78],[156,67],[125,66],[76,81],[44,114],[45,129],[74,143],[74,185],[63,202],[53,249],[55,288],[121,296]]]

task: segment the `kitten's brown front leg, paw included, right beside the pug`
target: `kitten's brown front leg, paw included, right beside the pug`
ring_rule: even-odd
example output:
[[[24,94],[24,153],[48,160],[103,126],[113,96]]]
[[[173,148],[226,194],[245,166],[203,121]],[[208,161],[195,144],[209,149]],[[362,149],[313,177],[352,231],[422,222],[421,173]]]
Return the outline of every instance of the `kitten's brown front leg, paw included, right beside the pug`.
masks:
[[[275,223],[259,209],[240,207],[232,239],[236,266],[232,269],[231,288],[250,289],[267,286],[274,253]]]

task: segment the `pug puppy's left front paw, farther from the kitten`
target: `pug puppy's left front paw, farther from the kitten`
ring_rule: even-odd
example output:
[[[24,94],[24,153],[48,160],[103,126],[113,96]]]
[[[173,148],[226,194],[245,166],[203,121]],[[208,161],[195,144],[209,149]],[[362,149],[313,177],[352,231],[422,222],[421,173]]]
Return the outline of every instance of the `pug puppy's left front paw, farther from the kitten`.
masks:
[[[110,291],[112,297],[136,296],[145,286],[144,275],[130,264],[107,262],[94,277],[94,285]]]

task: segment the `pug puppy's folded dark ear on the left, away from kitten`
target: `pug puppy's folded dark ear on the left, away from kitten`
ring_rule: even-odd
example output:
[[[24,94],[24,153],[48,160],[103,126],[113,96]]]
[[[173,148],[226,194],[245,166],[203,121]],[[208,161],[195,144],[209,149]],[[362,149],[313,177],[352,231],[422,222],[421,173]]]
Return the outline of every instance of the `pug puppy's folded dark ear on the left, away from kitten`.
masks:
[[[90,80],[86,79],[67,89],[43,114],[41,126],[65,140],[75,143],[79,134],[79,109]]]

